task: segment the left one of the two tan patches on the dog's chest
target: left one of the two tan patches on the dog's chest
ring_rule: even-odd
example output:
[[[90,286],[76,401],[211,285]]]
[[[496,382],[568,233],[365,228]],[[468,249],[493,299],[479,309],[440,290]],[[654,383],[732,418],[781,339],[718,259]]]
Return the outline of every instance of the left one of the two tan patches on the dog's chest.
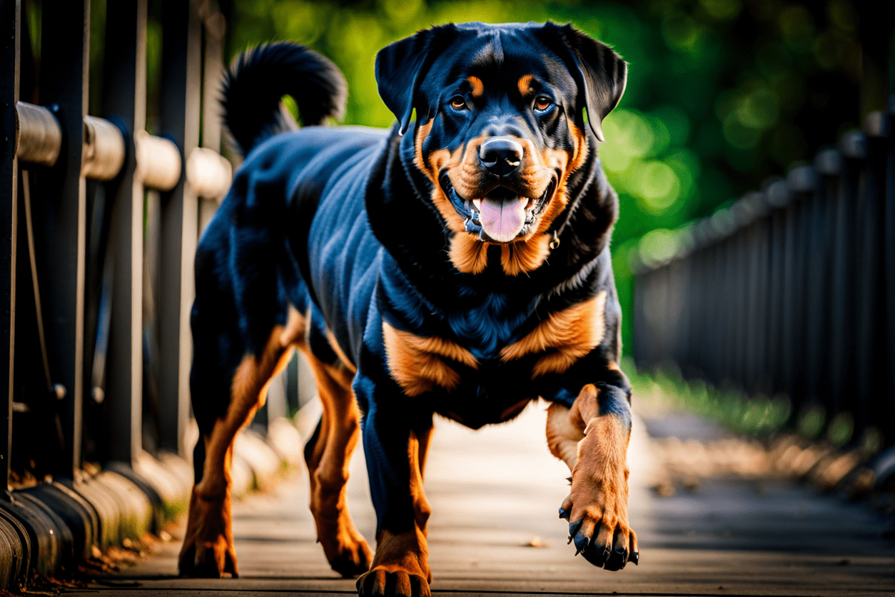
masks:
[[[472,353],[463,346],[439,337],[419,337],[403,329],[382,323],[388,372],[410,397],[419,396],[435,386],[448,391],[460,383],[460,374],[445,358],[479,368]]]

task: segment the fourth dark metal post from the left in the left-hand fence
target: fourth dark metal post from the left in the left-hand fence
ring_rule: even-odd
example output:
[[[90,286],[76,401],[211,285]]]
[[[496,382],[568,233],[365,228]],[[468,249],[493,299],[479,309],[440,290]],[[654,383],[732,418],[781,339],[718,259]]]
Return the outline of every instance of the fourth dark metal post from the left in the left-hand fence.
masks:
[[[199,145],[201,23],[192,4],[166,0],[162,5],[160,132],[175,141],[183,159]],[[187,455],[183,438],[190,416],[192,262],[199,230],[199,201],[185,178],[162,199],[158,305],[159,446],[182,456]]]

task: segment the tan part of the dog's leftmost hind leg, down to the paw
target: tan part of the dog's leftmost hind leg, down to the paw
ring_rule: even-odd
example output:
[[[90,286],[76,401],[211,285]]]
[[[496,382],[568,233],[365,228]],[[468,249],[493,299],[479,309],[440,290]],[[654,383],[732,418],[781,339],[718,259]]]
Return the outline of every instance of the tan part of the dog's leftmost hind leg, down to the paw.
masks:
[[[230,517],[233,440],[236,432],[251,421],[255,411],[264,404],[268,381],[288,362],[296,330],[303,327],[296,311],[290,315],[285,327],[273,328],[259,354],[245,355],[234,368],[226,414],[213,422],[200,423],[200,428],[204,429],[194,463],[197,482],[190,496],[187,529],[178,559],[182,576],[238,576]],[[194,405],[204,389],[200,385],[213,383],[214,367],[211,371],[203,371],[203,365],[208,362],[207,357],[203,360],[199,355],[193,362]]]

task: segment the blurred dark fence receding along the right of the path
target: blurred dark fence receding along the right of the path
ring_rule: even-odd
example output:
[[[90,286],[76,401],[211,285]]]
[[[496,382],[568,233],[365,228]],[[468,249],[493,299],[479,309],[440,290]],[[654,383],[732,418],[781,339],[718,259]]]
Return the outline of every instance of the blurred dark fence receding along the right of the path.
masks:
[[[893,115],[895,98],[812,165],[642,254],[638,367],[786,399],[792,423],[850,428],[848,445],[895,445]]]

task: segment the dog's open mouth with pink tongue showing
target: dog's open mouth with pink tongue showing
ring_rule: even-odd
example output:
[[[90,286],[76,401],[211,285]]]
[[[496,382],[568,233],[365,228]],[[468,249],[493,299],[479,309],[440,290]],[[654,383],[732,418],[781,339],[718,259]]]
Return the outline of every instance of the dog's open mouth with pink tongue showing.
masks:
[[[556,176],[541,197],[524,197],[505,186],[485,193],[481,199],[463,199],[457,194],[447,173],[439,176],[441,190],[456,212],[465,220],[466,232],[478,233],[485,243],[509,243],[530,232],[556,190]]]

